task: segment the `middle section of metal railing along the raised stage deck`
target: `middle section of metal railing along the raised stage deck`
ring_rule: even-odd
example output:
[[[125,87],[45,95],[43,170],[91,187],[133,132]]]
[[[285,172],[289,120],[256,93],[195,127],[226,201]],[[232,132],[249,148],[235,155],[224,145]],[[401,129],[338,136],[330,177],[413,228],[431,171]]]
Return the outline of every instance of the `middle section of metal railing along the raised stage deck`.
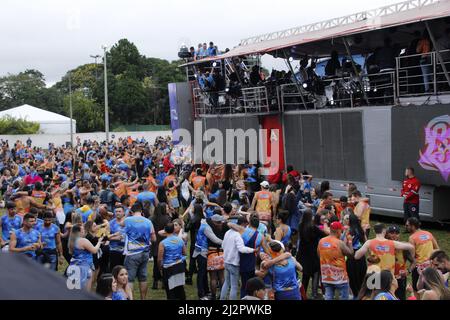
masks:
[[[375,74],[336,77],[318,81],[313,90],[297,84],[281,86],[281,109],[283,111],[324,108],[354,108],[367,105],[393,104],[396,97],[395,70]],[[365,94],[364,94],[365,93]],[[302,97],[303,96],[303,100]],[[304,102],[305,103],[304,103]],[[305,106],[306,104],[306,106]]]

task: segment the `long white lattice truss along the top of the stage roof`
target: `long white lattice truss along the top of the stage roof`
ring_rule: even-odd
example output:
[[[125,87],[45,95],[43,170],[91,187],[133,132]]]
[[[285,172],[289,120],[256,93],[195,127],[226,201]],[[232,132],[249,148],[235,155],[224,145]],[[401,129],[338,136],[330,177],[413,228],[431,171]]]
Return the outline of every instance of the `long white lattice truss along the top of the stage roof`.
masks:
[[[290,28],[282,31],[271,32],[267,34],[258,35],[243,39],[240,42],[240,46],[246,46],[262,41],[269,41],[275,39],[282,39],[287,37],[296,36],[299,34],[331,29],[344,25],[354,24],[356,22],[367,21],[370,19],[380,18],[391,14],[405,12],[412,9],[423,8],[429,5],[433,5],[440,2],[440,0],[409,0],[405,2],[396,3],[393,5],[384,6],[378,9],[358,12],[344,17],[325,20],[313,24],[308,24],[300,27]]]

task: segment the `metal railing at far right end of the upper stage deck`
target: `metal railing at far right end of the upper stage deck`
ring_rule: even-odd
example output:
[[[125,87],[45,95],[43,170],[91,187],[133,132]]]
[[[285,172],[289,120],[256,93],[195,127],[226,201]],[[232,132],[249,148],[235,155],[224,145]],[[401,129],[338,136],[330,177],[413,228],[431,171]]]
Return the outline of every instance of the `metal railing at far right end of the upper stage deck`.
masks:
[[[439,53],[450,72],[450,50]],[[397,57],[396,63],[397,92],[400,98],[450,92],[436,52]]]

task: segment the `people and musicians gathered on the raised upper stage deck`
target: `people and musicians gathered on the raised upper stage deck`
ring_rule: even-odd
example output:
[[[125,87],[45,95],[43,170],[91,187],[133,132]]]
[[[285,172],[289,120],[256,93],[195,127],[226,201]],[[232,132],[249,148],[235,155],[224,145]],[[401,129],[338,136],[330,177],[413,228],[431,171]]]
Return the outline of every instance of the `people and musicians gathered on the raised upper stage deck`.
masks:
[[[217,95],[224,96],[223,103],[231,110],[237,110],[239,99],[243,97],[242,90],[248,88],[265,87],[269,100],[269,107],[278,106],[276,101],[278,89],[285,84],[292,86],[284,88],[286,93],[301,92],[304,96],[300,99],[297,95],[289,96],[283,101],[285,108],[298,108],[299,106],[310,108],[323,107],[349,107],[351,105],[391,104],[394,102],[394,71],[400,68],[400,89],[407,94],[423,94],[437,91],[447,91],[448,83],[443,75],[439,63],[433,70],[433,51],[440,51],[444,63],[450,63],[450,28],[436,40],[436,48],[433,47],[428,32],[415,31],[411,36],[413,40],[405,48],[390,38],[383,40],[383,45],[373,52],[361,57],[363,65],[356,62],[355,56],[339,53],[333,50],[329,58],[318,58],[305,55],[299,57],[298,66],[294,65],[293,58],[290,71],[278,71],[273,69],[270,74],[265,74],[260,63],[249,64],[242,57],[228,59],[228,69],[222,67],[222,61],[214,61],[208,66],[203,64],[194,67],[194,76],[190,80],[196,80],[199,88],[211,96],[209,104],[212,113],[220,113]],[[362,41],[355,40],[355,41]],[[195,57],[207,55],[214,51],[210,44],[199,45],[199,50],[191,48],[192,61]],[[211,50],[210,50],[211,49]],[[397,64],[397,58],[400,58]],[[287,58],[286,58],[287,59]],[[251,60],[251,59],[250,59]],[[360,61],[360,63],[361,63]],[[226,63],[226,62],[225,62]],[[317,73],[317,66],[323,65],[324,72]],[[433,75],[436,73],[435,77]],[[226,81],[225,81],[226,80]],[[435,84],[435,81],[437,82]],[[436,88],[434,88],[436,86]],[[233,100],[234,99],[234,100]],[[272,101],[274,100],[274,101]],[[234,102],[234,103],[233,103]],[[237,104],[237,105],[235,105]]]

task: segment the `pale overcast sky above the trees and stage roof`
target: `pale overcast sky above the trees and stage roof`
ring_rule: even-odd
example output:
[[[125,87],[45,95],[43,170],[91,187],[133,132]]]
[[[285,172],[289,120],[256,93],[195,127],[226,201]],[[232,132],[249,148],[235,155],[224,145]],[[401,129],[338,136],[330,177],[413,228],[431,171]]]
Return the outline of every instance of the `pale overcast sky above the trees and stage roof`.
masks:
[[[38,69],[47,83],[93,62],[121,38],[147,57],[174,60],[181,43],[241,39],[400,0],[1,0],[0,75]]]

